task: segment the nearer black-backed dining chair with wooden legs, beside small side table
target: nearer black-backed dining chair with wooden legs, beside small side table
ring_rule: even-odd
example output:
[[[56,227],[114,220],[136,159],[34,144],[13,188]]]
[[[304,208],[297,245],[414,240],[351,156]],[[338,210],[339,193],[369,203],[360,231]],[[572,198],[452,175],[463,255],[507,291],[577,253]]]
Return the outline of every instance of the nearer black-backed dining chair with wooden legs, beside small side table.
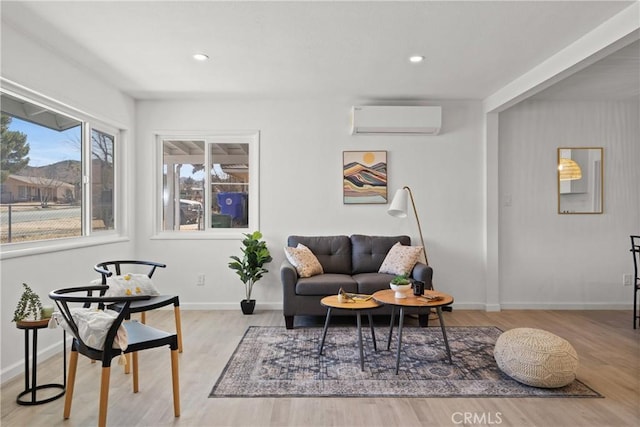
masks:
[[[171,350],[171,383],[173,388],[173,412],[176,417],[180,416],[180,383],[178,372],[178,336],[176,334],[164,332],[137,321],[124,322],[130,315],[130,305],[134,302],[149,300],[148,296],[126,296],[126,297],[105,297],[93,296],[103,293],[107,286],[90,285],[82,287],[63,288],[49,293],[57,305],[61,322],[65,330],[73,335],[71,354],[69,357],[69,373],[67,380],[67,390],[64,402],[64,419],[68,419],[71,414],[71,403],[73,400],[73,390],[75,384],[76,370],[78,366],[78,355],[82,354],[94,361],[102,362],[102,375],[100,380],[100,402],[98,409],[98,426],[104,427],[107,424],[107,407],[109,400],[109,380],[111,374],[111,361],[121,354],[131,354],[133,371],[133,392],[139,390],[138,382],[138,352],[142,350],[169,346]],[[80,295],[83,294],[83,295]],[[76,305],[76,306],[74,306]],[[106,313],[104,311],[92,310],[92,306],[97,308],[106,306],[116,307],[117,316],[107,316],[112,323],[110,326],[104,322]],[[79,311],[84,310],[84,311]],[[113,312],[112,312],[113,313]],[[102,316],[100,318],[92,315]],[[89,319],[89,321],[87,321]],[[100,320],[100,322],[96,322]],[[87,328],[96,328],[96,323],[100,323],[102,328],[95,329],[91,334],[85,334]],[[123,334],[119,334],[120,328],[126,330],[127,340],[122,342]],[[106,336],[104,334],[106,329]],[[99,348],[94,342],[96,335],[105,336],[104,344]],[[88,340],[93,340],[89,341]],[[117,345],[114,345],[117,344]],[[116,348],[114,348],[116,347]]]

